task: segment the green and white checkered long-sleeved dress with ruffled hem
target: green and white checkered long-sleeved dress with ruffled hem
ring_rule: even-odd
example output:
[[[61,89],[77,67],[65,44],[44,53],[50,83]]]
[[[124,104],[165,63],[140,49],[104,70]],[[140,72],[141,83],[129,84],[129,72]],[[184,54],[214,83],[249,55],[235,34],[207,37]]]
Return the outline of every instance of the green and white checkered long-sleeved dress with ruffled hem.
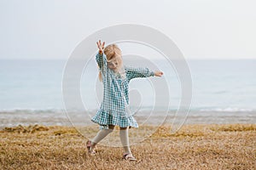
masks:
[[[108,129],[108,125],[119,127],[138,127],[136,120],[130,114],[129,87],[128,83],[132,78],[153,77],[154,71],[148,68],[124,67],[124,74],[114,73],[108,68],[105,54],[96,54],[96,62],[102,73],[103,100],[96,116],[91,118],[92,122],[101,125],[101,128]]]

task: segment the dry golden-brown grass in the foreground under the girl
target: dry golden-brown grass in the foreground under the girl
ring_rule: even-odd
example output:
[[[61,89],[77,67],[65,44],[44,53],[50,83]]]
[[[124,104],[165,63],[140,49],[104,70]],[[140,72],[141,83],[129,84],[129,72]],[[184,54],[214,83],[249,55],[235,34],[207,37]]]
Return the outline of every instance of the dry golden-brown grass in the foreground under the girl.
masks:
[[[89,156],[87,139],[73,127],[9,127],[0,131],[0,169],[255,168],[255,124],[186,125],[175,134],[169,130],[160,127],[131,146],[137,161],[129,162],[121,159],[121,148],[100,145],[97,155]]]

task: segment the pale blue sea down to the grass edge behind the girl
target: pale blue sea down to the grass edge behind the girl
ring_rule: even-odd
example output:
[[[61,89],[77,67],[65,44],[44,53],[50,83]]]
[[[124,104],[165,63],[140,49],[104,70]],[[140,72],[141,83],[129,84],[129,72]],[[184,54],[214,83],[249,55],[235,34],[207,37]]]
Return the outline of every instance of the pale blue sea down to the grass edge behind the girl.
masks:
[[[181,85],[182,77],[178,76],[175,66],[165,65],[165,61],[156,65],[164,72],[163,77],[131,81],[130,107],[139,123],[172,123],[177,120],[174,117],[179,117],[179,122],[184,124],[256,123],[256,59],[186,62],[191,85]],[[96,62],[85,65],[79,80],[77,99],[84,108],[76,108],[75,104],[70,107],[77,99],[63,95],[66,65],[66,59],[1,59],[0,127],[90,125],[90,117],[102,99]],[[191,95],[185,96],[190,103],[179,111],[184,87],[191,89]],[[168,116],[171,119],[166,119]]]

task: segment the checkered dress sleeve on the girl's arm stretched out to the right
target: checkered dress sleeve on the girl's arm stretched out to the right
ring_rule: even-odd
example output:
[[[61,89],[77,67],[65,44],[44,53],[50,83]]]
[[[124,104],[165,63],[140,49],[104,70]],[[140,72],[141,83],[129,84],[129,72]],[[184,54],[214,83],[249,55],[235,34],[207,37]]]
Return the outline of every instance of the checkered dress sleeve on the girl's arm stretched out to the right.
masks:
[[[154,71],[150,71],[148,68],[125,67],[125,72],[128,81],[137,77],[154,77]]]

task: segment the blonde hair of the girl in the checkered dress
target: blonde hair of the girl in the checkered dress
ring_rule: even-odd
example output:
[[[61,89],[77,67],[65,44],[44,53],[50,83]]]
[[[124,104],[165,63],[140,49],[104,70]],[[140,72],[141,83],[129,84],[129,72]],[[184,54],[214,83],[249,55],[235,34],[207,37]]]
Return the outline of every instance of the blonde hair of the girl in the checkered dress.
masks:
[[[122,52],[120,48],[116,44],[110,44],[106,48],[104,48],[104,54],[107,57],[107,62],[112,62],[113,59],[116,59],[118,62],[117,71],[122,74],[122,67],[123,67],[123,59],[122,59]],[[99,72],[99,79],[102,81],[102,72]]]

